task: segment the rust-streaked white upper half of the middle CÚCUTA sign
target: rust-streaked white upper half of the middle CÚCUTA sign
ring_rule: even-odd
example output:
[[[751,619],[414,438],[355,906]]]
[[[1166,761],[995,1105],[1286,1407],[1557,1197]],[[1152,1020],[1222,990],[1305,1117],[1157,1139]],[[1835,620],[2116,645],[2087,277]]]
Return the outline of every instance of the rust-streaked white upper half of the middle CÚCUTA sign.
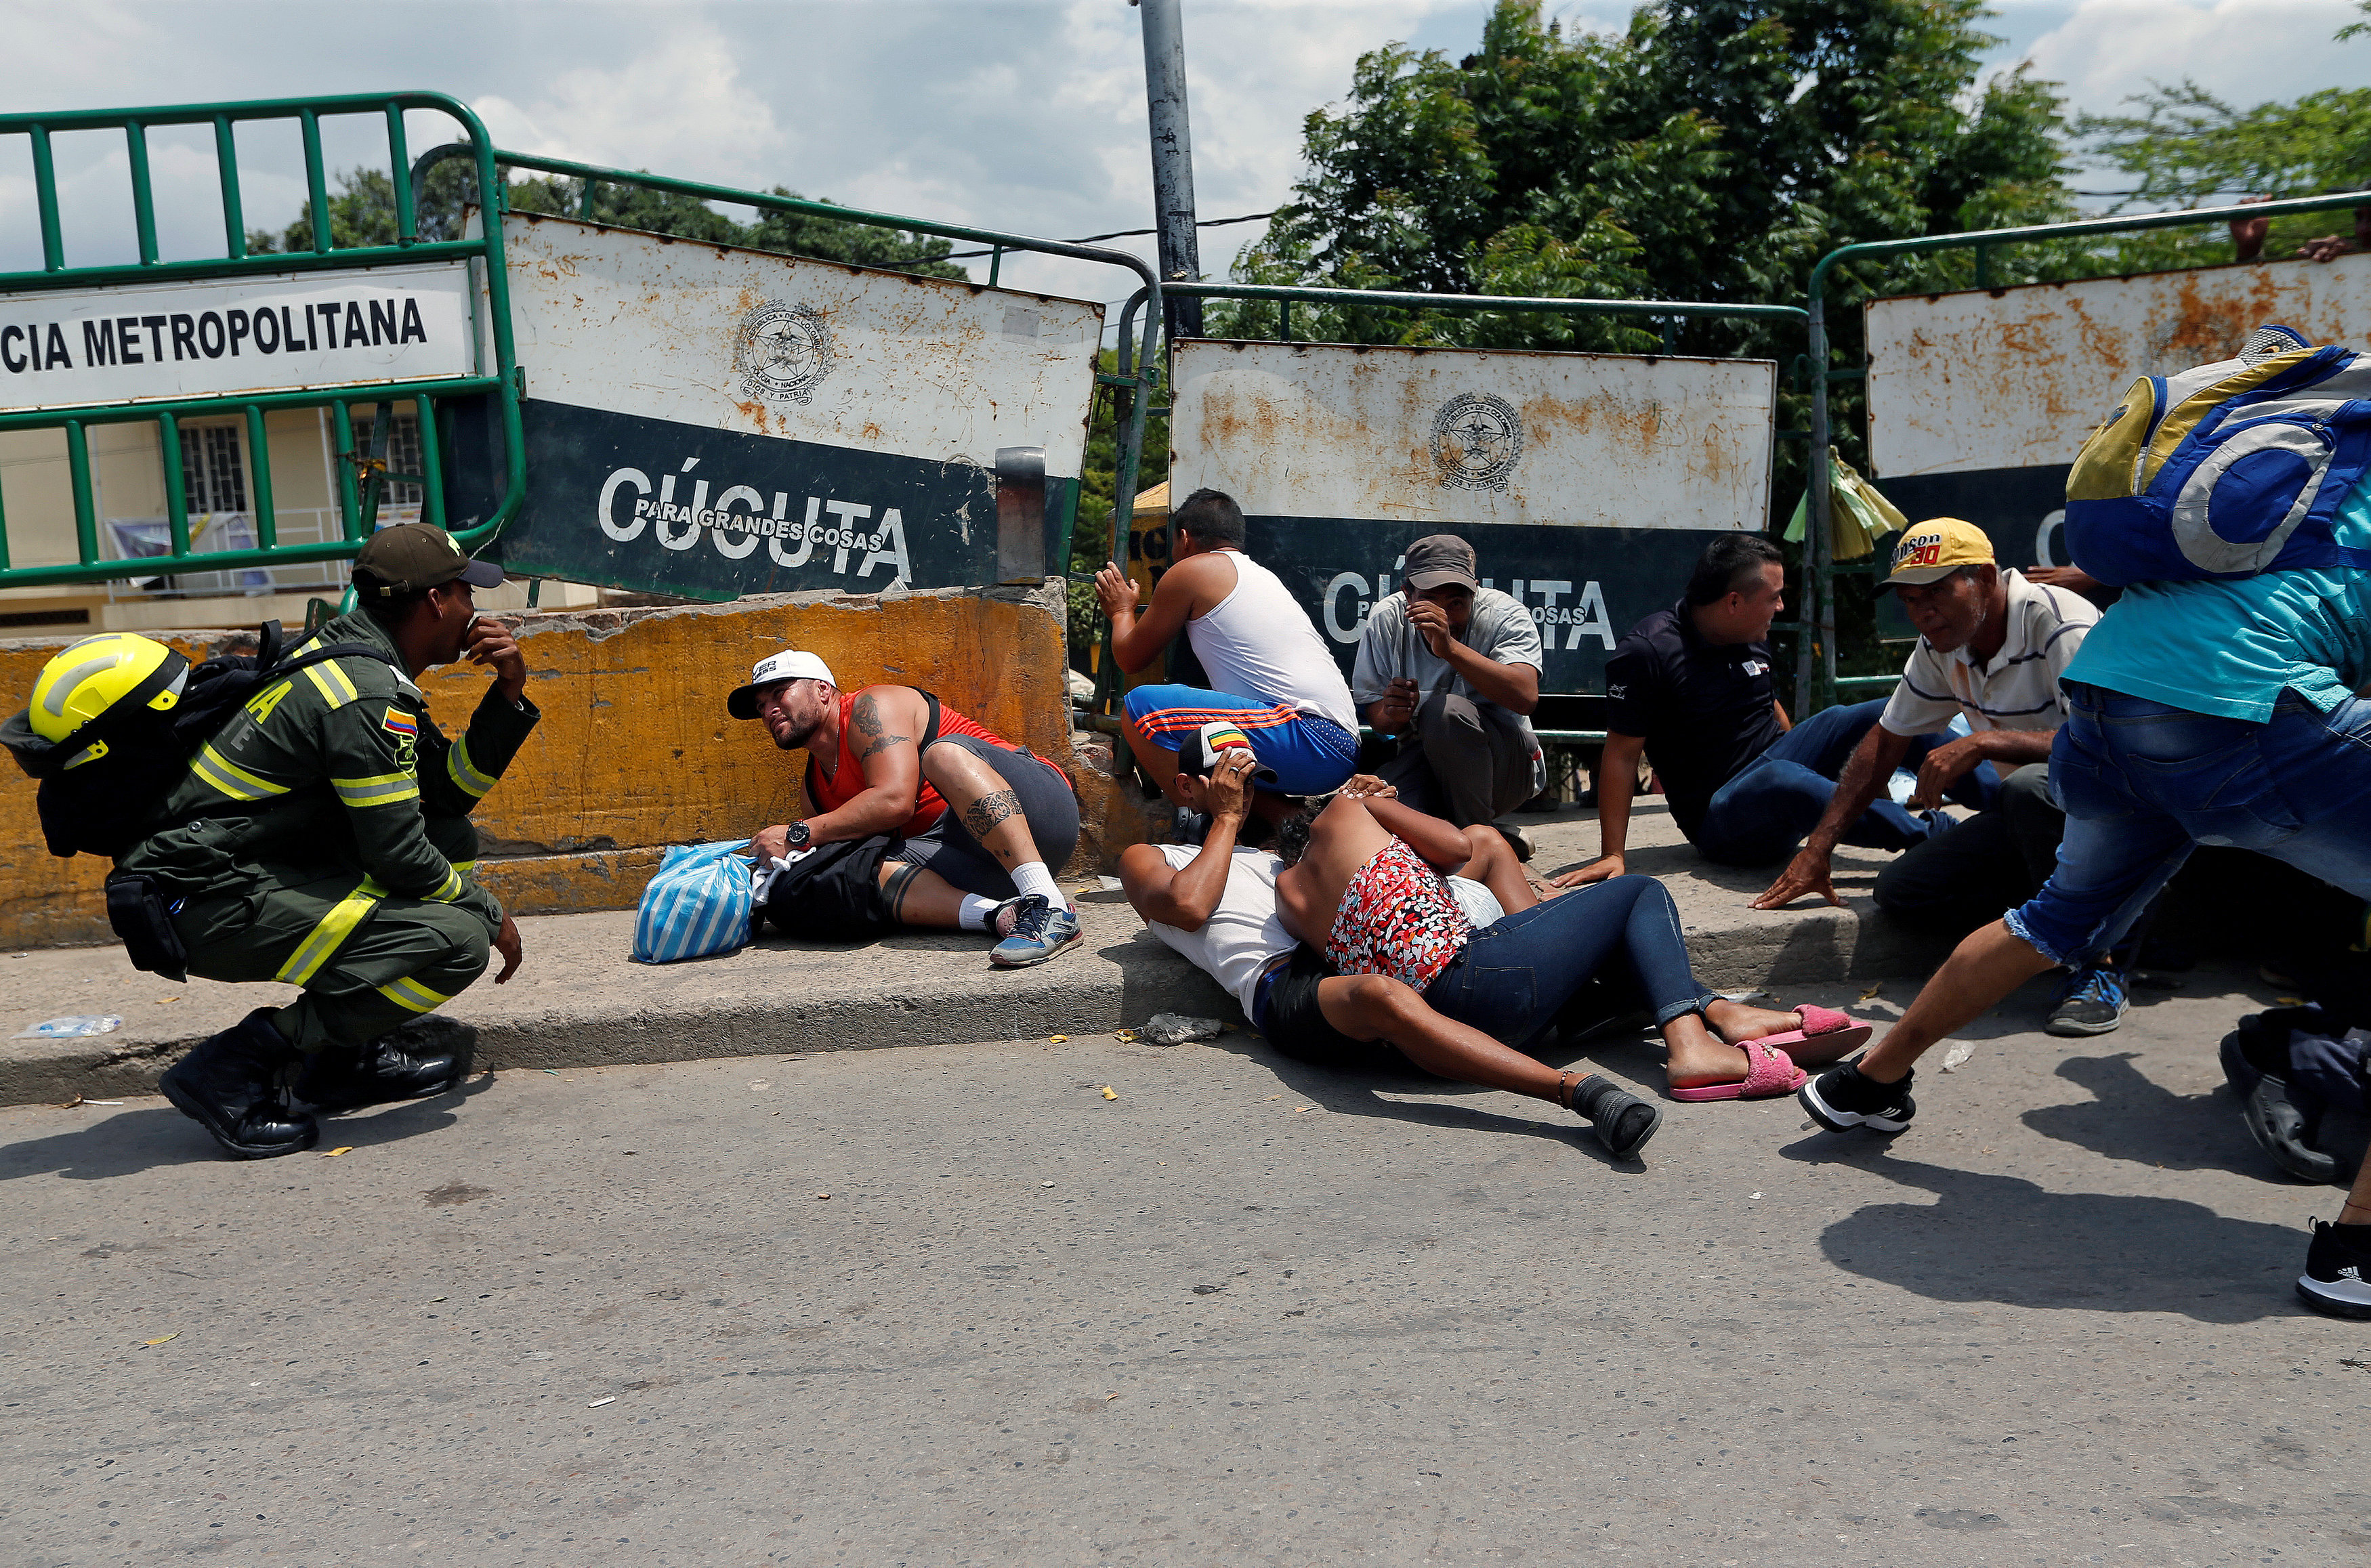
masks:
[[[1771,361],[1181,342],[1169,491],[1261,517],[1759,529]]]

